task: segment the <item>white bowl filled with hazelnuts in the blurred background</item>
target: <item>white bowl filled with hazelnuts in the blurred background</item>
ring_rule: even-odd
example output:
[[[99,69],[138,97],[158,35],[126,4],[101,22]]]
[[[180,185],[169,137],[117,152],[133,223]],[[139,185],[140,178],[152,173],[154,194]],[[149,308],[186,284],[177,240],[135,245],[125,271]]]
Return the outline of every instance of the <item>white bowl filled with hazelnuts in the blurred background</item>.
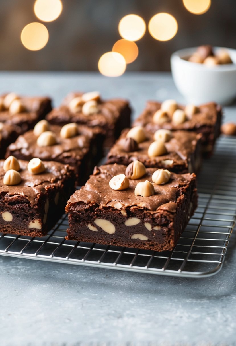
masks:
[[[236,49],[204,45],[171,55],[179,92],[192,103],[232,103],[236,97]]]

